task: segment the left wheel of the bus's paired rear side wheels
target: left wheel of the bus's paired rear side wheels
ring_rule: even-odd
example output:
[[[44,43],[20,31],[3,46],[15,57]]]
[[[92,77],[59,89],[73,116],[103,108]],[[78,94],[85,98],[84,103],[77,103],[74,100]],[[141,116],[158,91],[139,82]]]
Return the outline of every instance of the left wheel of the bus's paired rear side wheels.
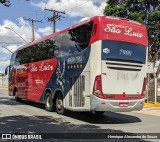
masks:
[[[54,111],[53,99],[50,92],[46,93],[45,97],[45,109],[47,111]]]

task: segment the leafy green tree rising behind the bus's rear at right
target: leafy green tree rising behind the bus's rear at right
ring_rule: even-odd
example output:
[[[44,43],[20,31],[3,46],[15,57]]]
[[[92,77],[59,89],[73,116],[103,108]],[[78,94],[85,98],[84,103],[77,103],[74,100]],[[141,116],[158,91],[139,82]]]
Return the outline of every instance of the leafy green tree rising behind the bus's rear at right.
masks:
[[[104,15],[123,17],[145,24],[149,43],[152,45],[150,60],[156,60],[155,55],[160,58],[160,38],[156,37],[160,31],[160,0],[108,0]]]

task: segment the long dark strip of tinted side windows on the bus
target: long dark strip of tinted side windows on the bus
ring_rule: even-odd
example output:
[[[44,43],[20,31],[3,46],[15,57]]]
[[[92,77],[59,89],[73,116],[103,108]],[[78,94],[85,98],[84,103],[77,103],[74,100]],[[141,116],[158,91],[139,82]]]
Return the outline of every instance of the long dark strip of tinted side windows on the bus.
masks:
[[[81,52],[89,45],[92,27],[93,22],[90,22],[66,33],[19,50],[15,64],[21,65]]]

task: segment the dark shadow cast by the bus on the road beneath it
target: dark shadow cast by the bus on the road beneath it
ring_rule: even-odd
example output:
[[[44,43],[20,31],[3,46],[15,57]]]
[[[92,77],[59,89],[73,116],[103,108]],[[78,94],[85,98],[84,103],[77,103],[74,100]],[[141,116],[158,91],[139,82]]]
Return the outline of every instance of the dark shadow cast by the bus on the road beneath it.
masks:
[[[21,104],[44,109],[44,104],[35,103],[31,101],[22,101]],[[56,112],[53,112],[53,114]],[[132,115],[105,112],[102,115],[96,115],[91,112],[73,112],[67,111],[65,116],[81,120],[91,124],[123,124],[123,123],[137,123],[141,122],[141,119]]]

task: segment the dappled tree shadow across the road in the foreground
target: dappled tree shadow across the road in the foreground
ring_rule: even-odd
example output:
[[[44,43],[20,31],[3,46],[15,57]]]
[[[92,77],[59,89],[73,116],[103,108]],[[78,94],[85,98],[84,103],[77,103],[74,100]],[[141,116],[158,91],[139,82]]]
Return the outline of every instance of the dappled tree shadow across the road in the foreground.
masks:
[[[61,118],[51,116],[8,116],[0,118],[0,133],[47,133],[42,138],[54,138],[54,141],[117,141],[118,139],[107,139],[109,135],[124,135],[121,130],[100,129],[99,126],[90,124],[74,125],[64,122]],[[57,134],[56,134],[57,133]],[[135,135],[135,134],[130,134]],[[68,140],[65,140],[68,139]],[[71,140],[70,140],[71,139]],[[74,139],[74,140],[73,140]],[[76,140],[75,140],[76,139]],[[87,141],[88,141],[87,140]],[[21,140],[19,140],[21,141]],[[125,139],[118,141],[124,142]],[[126,140],[127,141],[127,140]],[[142,139],[129,139],[130,142],[144,142]]]

